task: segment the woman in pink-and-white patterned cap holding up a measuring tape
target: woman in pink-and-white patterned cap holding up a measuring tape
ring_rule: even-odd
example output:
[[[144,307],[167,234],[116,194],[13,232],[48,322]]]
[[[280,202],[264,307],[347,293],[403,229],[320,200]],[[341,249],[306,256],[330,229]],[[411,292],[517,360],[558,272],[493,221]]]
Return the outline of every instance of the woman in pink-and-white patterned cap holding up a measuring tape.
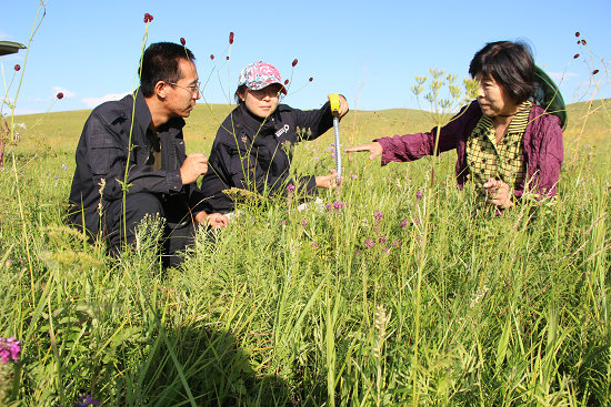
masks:
[[[289,176],[291,145],[313,140],[333,125],[329,102],[319,110],[301,111],[279,104],[283,94],[287,90],[273,65],[256,62],[241,71],[236,91],[238,106],[217,132],[201,185],[209,210],[232,212],[234,202],[223,192],[230,189],[260,194],[284,194],[294,189],[296,193],[306,194],[315,193],[319,187],[335,187],[333,170],[328,175]],[[340,104],[341,118],[348,113],[343,96]]]

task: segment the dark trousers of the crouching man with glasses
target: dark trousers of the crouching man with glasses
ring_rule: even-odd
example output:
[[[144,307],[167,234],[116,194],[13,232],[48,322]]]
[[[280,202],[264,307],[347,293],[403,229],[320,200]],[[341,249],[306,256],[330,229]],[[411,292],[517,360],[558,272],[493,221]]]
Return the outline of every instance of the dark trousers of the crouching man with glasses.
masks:
[[[171,267],[180,264],[183,256],[179,252],[193,244],[196,235],[196,222],[180,196],[167,199],[147,192],[127,194],[124,211],[122,200],[106,202],[106,240],[111,253],[118,255],[124,245],[136,241],[136,228],[147,215],[166,220],[160,242],[163,265]]]

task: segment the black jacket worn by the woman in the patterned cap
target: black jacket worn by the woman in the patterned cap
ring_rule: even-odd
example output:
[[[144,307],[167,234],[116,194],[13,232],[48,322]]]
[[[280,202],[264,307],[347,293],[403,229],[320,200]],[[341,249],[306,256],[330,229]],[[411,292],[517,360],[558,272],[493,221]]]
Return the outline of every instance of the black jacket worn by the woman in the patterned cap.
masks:
[[[267,120],[240,103],[219,128],[208,159],[208,173],[201,184],[207,212],[233,211],[233,201],[222,192],[231,187],[283,194],[293,184],[302,192],[315,192],[314,176],[289,177],[291,146],[318,138],[332,125],[329,102],[311,111],[280,104]]]

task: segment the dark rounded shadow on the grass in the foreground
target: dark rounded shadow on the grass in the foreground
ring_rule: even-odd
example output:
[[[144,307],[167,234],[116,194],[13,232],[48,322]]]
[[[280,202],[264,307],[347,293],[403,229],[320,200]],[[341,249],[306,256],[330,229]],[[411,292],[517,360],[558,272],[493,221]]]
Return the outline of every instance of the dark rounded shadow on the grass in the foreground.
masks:
[[[256,374],[232,334],[206,325],[160,333],[138,369],[136,405],[294,405],[283,380]]]

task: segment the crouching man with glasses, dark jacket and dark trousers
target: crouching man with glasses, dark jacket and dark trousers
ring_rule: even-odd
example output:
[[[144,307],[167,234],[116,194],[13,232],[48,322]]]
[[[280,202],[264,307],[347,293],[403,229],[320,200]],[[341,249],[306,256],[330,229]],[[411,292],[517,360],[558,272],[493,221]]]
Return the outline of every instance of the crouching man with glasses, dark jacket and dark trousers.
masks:
[[[69,221],[106,238],[118,253],[136,240],[147,215],[162,216],[164,258],[193,241],[198,224],[224,227],[227,217],[202,208],[196,181],[208,170],[203,153],[186,155],[182,128],[200,99],[194,57],[182,45],[159,42],[142,55],[133,95],[96,108],[81,134],[70,191]],[[133,120],[132,120],[133,118]]]

